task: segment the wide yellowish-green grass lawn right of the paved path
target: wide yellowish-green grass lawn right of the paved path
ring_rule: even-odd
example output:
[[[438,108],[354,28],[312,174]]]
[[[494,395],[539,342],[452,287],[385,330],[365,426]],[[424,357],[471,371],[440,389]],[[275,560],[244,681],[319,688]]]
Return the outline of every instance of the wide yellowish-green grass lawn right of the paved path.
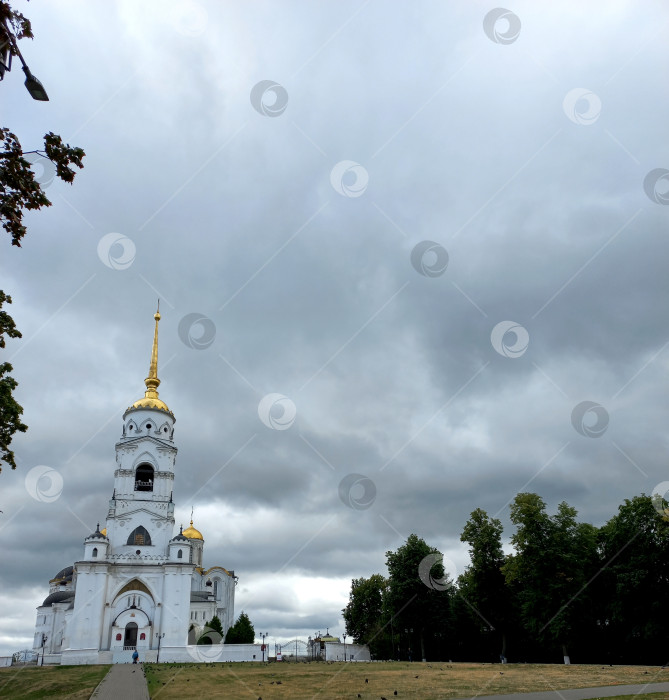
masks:
[[[256,700],[412,700],[472,697],[669,681],[657,666],[467,663],[145,664],[153,700],[228,697]],[[365,679],[369,682],[365,683]],[[639,700],[645,696],[634,696]],[[669,698],[655,693],[652,700]]]

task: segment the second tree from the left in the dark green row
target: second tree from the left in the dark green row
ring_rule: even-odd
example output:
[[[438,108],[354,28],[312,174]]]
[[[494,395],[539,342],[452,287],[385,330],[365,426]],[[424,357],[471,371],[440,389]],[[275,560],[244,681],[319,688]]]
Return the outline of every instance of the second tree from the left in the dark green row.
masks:
[[[440,640],[448,637],[452,587],[445,580],[441,560],[437,549],[414,534],[396,552],[386,552],[393,629],[409,635],[407,647],[417,636],[423,659],[427,658],[426,640],[432,641],[434,651]]]

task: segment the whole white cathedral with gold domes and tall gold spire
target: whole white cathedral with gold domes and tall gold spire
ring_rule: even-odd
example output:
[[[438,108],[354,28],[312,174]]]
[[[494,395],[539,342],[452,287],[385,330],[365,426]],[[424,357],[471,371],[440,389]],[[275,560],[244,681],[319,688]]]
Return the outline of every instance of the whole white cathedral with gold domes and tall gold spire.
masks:
[[[155,661],[158,650],[161,661],[193,660],[189,630],[214,615],[224,634],[234,622],[234,571],[204,568],[192,519],[173,536],[175,418],[158,398],[160,313],[154,319],[146,392],[123,414],[116,443],[106,527],[86,537],[81,560],[49,581],[37,608],[34,650],[51,662],[127,661],[134,649],[142,661]],[[251,660],[255,649],[246,651]]]

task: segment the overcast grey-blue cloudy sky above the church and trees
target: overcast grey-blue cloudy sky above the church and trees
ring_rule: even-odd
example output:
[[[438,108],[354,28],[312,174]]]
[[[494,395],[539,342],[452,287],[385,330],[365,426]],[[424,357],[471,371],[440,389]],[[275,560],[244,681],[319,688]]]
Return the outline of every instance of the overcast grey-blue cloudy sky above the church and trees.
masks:
[[[519,491],[599,525],[669,479],[669,7],[15,5],[50,101],[16,62],[2,125],[86,158],[0,241],[0,653],[106,517],[158,297],[177,526],[270,639],[341,634],[412,532],[457,574],[476,507],[508,540]]]

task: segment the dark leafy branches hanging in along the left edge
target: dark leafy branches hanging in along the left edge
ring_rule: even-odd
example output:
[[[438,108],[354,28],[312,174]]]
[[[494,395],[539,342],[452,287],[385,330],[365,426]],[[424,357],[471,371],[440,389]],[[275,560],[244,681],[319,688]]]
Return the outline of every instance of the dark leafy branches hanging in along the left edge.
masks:
[[[8,2],[0,0],[0,47],[9,47],[12,55],[18,55],[16,42],[33,38],[30,20],[13,10]],[[23,213],[31,209],[51,206],[51,202],[35,177],[30,163],[24,158],[28,153],[38,153],[48,158],[56,166],[56,175],[64,182],[74,180],[72,165],[82,168],[84,151],[81,148],[64,144],[60,136],[48,132],[44,136],[44,151],[24,151],[21,143],[9,129],[0,128],[0,222],[11,236],[12,245],[20,246],[26,234]],[[0,291],[2,302],[11,303],[8,295]],[[0,313],[0,348],[5,347],[4,334],[10,338],[20,338],[13,319],[7,312]],[[16,432],[25,432],[27,426],[19,417],[23,408],[14,398],[18,386],[9,372],[12,366],[0,364],[0,462],[16,469],[14,452],[9,449]]]

